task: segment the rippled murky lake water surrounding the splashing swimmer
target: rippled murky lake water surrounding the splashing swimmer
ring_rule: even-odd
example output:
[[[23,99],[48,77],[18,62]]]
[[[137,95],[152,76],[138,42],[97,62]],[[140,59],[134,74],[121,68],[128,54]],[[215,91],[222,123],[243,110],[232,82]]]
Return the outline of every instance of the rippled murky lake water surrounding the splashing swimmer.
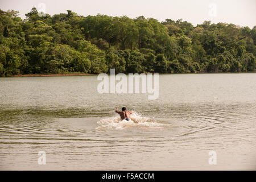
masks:
[[[0,169],[256,169],[256,73],[159,75],[156,100],[99,94],[99,82],[0,78]]]

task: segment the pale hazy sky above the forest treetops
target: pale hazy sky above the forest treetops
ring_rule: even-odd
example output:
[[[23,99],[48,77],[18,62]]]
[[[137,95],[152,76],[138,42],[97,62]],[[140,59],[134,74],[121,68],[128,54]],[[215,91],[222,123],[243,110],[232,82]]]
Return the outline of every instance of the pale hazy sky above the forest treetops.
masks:
[[[50,15],[72,10],[83,16],[100,13],[136,18],[143,15],[159,22],[167,18],[182,18],[194,26],[204,20],[233,23],[241,27],[256,26],[256,0],[0,0],[0,9],[19,11],[20,17],[25,18],[32,7],[44,11],[42,3]]]

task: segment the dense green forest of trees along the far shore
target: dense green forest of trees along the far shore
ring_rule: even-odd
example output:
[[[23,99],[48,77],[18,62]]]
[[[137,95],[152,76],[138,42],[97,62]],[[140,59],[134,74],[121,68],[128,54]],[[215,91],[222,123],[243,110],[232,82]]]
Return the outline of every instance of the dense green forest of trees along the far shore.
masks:
[[[0,75],[254,72],[256,26],[0,10]]]

